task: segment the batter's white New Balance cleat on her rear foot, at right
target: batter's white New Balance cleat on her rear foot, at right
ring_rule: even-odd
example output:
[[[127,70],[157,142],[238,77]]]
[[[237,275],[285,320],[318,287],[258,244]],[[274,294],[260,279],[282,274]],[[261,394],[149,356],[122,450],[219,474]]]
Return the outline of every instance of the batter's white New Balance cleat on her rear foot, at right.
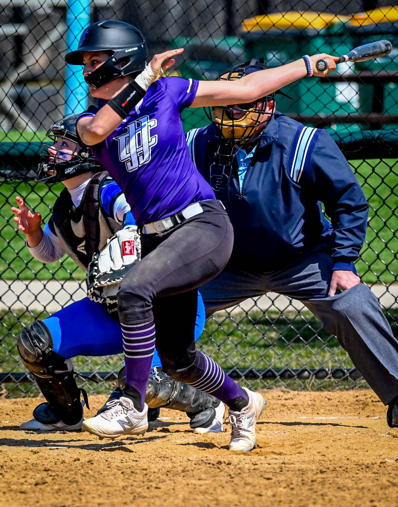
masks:
[[[266,401],[259,392],[253,392],[243,387],[248,394],[249,403],[240,412],[228,410],[231,423],[230,451],[246,452],[256,445],[256,422],[260,417]]]

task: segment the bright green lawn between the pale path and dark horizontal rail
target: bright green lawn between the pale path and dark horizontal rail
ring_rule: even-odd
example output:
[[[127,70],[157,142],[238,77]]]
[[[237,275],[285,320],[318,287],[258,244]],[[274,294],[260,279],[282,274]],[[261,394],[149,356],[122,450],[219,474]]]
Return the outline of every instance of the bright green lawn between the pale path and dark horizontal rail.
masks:
[[[398,272],[398,162],[396,160],[369,160],[352,163],[365,195],[373,209],[370,210],[367,244],[356,268],[365,283],[393,283]],[[67,280],[71,276],[79,280],[84,273],[67,258],[60,263],[43,265],[32,259],[24,245],[23,236],[16,231],[12,221],[11,206],[20,195],[29,207],[42,213],[44,221],[51,214],[62,185],[25,184],[21,182],[0,185],[0,235],[2,237],[0,276],[3,279]]]

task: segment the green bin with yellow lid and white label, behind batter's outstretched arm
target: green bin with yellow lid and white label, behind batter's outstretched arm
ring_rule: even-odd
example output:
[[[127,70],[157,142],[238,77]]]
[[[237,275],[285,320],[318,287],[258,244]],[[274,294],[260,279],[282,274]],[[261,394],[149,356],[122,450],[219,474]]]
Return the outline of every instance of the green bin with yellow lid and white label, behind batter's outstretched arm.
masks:
[[[347,30],[349,16],[312,11],[290,11],[257,16],[242,23],[242,38],[247,59],[264,56],[274,67],[300,58],[303,54],[342,55],[352,49]],[[353,73],[353,63],[340,64],[338,73]],[[304,78],[284,88],[293,97],[278,97],[277,108],[285,113],[303,115],[342,115],[357,113],[359,94],[356,83],[321,83]],[[352,128],[352,124],[351,128]],[[347,125],[336,124],[335,129]]]

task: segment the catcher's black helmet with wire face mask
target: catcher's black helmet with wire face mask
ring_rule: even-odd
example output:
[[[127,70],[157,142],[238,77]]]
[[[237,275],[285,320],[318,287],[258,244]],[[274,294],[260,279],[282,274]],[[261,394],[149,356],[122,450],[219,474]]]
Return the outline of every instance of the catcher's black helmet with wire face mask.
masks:
[[[77,144],[76,119],[78,115],[71,115],[51,125],[47,136],[56,143],[59,138],[71,141],[69,148],[57,150],[50,154],[53,148],[48,144],[42,145],[42,155],[38,165],[35,181],[41,183],[58,183],[73,178],[84,172],[102,170],[102,166],[94,158],[88,148]]]

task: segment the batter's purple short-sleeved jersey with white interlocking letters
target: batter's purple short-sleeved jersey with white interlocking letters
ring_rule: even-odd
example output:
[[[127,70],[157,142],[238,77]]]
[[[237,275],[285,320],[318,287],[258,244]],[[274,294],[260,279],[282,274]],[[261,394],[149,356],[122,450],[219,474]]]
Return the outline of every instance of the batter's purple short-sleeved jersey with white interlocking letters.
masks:
[[[102,142],[91,146],[126,196],[138,224],[170,216],[188,204],[215,199],[189,155],[180,118],[196,94],[198,82],[161,78],[130,115]],[[80,118],[94,116],[98,101]]]

